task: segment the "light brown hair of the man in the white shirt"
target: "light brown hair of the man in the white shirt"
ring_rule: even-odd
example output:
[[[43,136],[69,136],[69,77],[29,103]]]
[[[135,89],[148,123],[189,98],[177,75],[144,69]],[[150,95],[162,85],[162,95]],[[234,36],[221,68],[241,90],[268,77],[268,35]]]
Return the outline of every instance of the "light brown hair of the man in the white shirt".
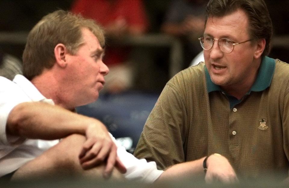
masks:
[[[44,16],[30,31],[23,52],[23,75],[31,80],[55,63],[54,48],[62,43],[74,55],[82,44],[82,28],[88,28],[104,47],[104,31],[94,20],[58,10]]]

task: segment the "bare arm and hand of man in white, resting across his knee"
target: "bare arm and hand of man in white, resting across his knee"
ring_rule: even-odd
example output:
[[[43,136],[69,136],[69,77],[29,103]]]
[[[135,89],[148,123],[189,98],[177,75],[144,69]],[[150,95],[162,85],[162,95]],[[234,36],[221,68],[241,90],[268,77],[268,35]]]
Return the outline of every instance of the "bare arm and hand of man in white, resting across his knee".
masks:
[[[117,147],[104,124],[59,106],[42,102],[20,103],[8,116],[6,133],[20,138],[44,140],[81,134],[86,137],[79,151],[79,163],[83,169],[93,168],[107,160],[104,177],[110,175],[114,166],[123,173],[126,171],[117,158]]]

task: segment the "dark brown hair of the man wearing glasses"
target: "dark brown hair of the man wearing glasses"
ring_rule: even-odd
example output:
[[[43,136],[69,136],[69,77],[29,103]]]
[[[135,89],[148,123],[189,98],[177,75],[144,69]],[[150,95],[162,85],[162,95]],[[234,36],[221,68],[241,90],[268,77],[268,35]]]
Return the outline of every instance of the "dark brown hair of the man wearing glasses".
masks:
[[[266,40],[262,55],[268,55],[272,38],[272,21],[263,0],[210,0],[206,7],[205,25],[209,17],[222,17],[237,9],[241,9],[247,14],[250,39],[253,41]]]

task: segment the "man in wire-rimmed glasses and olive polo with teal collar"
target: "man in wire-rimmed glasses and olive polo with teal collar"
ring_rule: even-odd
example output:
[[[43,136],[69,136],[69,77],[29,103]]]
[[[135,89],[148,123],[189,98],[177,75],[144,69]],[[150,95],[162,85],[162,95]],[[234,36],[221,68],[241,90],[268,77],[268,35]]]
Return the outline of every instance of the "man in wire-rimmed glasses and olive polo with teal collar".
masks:
[[[134,155],[207,183],[287,180],[289,65],[266,56],[271,36],[263,0],[210,0],[205,62],[169,80]]]

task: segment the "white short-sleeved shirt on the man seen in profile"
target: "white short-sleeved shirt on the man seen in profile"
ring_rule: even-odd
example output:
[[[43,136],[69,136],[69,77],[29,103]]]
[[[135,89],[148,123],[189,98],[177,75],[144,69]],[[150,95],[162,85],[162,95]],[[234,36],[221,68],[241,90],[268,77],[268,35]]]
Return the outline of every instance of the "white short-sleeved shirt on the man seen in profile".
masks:
[[[0,77],[0,177],[20,168],[26,162],[41,155],[45,150],[56,145],[59,140],[26,139],[6,135],[6,122],[11,110],[22,102],[46,102],[54,105],[51,99],[46,99],[38,89],[24,76],[16,75],[13,82]],[[111,135],[113,138],[113,136]],[[113,138],[115,141],[115,139]],[[116,141],[115,141],[116,143]],[[117,155],[126,166],[127,179],[137,179],[146,183],[154,182],[163,171],[157,170],[155,162],[137,159],[117,145]]]

